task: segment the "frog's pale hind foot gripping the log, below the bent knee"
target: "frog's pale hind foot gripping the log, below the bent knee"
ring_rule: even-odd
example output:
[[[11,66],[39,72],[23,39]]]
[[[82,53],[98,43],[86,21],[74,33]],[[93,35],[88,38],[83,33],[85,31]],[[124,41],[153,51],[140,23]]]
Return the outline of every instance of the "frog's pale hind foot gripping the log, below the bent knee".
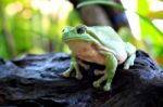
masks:
[[[135,58],[136,58],[136,54],[134,53],[134,54],[131,54],[131,55],[128,57],[128,59],[125,62],[125,64],[124,64],[124,69],[128,69],[129,66],[133,66]]]

